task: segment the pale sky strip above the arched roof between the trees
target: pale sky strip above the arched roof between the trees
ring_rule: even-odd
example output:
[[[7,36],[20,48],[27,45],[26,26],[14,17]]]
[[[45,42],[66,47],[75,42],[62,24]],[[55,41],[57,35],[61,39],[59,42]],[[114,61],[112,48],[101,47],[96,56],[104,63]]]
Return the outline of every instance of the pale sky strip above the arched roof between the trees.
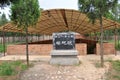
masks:
[[[65,8],[65,9],[76,9],[78,0],[39,0],[40,7],[43,9],[55,9],[55,8]]]

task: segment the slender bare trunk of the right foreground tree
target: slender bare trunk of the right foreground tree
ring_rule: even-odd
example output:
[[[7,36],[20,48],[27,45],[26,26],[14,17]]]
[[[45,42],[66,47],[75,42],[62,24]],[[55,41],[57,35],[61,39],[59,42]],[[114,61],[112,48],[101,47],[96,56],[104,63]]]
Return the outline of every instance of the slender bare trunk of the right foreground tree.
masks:
[[[100,16],[100,31],[101,31],[101,36],[100,36],[100,56],[101,56],[101,67],[104,66],[104,49],[103,49],[103,24],[102,24],[102,16]]]

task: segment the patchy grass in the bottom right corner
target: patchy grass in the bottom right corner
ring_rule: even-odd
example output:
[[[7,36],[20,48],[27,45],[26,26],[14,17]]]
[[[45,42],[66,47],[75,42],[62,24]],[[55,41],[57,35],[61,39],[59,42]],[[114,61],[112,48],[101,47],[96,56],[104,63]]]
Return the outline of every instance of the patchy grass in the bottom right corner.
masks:
[[[120,61],[111,61],[111,69],[106,77],[106,80],[120,80]]]

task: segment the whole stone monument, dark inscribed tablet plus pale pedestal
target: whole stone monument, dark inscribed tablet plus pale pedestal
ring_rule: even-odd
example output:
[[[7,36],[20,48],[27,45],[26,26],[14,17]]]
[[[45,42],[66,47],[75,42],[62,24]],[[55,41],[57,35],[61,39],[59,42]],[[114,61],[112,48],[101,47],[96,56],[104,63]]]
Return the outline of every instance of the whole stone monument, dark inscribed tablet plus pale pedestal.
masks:
[[[75,36],[73,33],[53,33],[53,50],[50,64],[76,65],[78,51],[75,49]]]

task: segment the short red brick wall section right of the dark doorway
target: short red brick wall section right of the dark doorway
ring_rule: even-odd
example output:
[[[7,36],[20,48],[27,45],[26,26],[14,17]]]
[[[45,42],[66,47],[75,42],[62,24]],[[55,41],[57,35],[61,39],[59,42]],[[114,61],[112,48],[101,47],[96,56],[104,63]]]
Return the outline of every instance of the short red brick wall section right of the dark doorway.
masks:
[[[104,54],[115,54],[115,47],[113,43],[103,43]],[[96,54],[100,54],[100,44],[96,44]]]

